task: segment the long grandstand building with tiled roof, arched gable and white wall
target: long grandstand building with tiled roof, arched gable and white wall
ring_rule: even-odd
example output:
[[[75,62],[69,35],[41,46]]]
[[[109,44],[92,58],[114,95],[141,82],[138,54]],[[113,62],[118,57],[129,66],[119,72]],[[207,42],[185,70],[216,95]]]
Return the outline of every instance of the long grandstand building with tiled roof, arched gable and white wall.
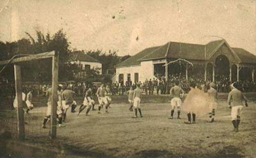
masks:
[[[248,68],[251,71],[251,79],[254,80],[254,72],[256,69],[256,56],[245,49],[231,48],[225,39],[211,41],[205,45],[191,44],[181,42],[168,42],[162,46],[144,49],[131,58],[116,65],[116,81],[131,80],[132,82],[143,82],[152,79],[155,76],[155,67],[161,64],[165,69],[165,76],[168,76],[168,67],[172,61],[186,60],[183,64],[192,63],[193,65],[201,65],[204,69],[204,79],[207,79],[207,69],[212,67],[212,81],[215,81],[215,69],[218,61],[227,62],[229,65],[225,69],[229,71],[229,78],[232,76],[239,80],[239,72],[241,68]],[[232,74],[235,69],[235,74]],[[186,77],[188,78],[188,70],[186,69]],[[168,77],[167,77],[168,78]],[[167,80],[166,78],[166,80]]]

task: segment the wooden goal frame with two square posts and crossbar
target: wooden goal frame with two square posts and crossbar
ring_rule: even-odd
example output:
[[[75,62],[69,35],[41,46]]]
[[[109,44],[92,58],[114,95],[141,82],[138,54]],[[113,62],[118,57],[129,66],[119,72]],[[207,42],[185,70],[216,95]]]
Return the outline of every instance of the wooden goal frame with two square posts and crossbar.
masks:
[[[52,102],[51,102],[51,128],[50,136],[56,138],[56,111],[57,111],[57,88],[58,88],[58,69],[59,69],[59,53],[56,51],[44,52],[40,54],[31,54],[25,57],[14,58],[12,60],[0,61],[0,65],[9,63],[14,64],[15,91],[17,97],[17,127],[18,137],[21,141],[25,140],[24,111],[22,107],[22,76],[20,63],[26,61],[34,61],[40,59],[52,58]]]

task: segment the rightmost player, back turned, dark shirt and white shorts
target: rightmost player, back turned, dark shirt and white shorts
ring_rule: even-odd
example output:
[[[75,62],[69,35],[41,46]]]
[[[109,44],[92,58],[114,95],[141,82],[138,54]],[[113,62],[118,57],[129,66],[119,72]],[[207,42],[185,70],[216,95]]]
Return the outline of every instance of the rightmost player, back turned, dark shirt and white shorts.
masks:
[[[245,107],[248,107],[247,98],[240,90],[237,89],[237,87],[237,83],[230,85],[231,91],[229,92],[228,97],[229,109],[231,109],[231,120],[235,132],[238,132],[239,123],[241,120],[240,115],[243,110],[243,102],[245,103]]]

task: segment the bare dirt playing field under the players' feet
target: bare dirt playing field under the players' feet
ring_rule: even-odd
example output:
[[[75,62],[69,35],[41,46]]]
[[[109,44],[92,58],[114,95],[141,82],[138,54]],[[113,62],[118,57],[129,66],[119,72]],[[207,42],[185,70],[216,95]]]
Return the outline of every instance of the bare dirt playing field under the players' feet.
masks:
[[[154,100],[154,97],[151,96]],[[123,100],[124,102],[126,100]],[[35,100],[35,108],[26,120],[26,146],[24,149],[10,150],[13,141],[5,142],[6,152],[11,157],[68,157],[68,158],[255,158],[256,157],[256,102],[250,101],[244,108],[240,131],[233,132],[230,109],[226,100],[219,100],[216,122],[208,123],[208,116],[197,118],[196,124],[184,124],[182,120],[168,120],[169,103],[143,103],[143,118],[131,118],[127,103],[114,103],[109,114],[85,110],[77,116],[67,113],[66,127],[57,129],[57,140],[49,138],[49,125],[42,129],[46,107],[45,98]],[[82,98],[77,99],[78,103]],[[147,102],[147,101],[145,101]],[[38,105],[38,106],[37,106]],[[97,107],[97,106],[96,106]],[[175,110],[175,118],[176,118]],[[6,116],[8,115],[8,116]],[[1,112],[0,126],[16,134],[15,111]],[[6,119],[8,118],[8,119]],[[15,139],[15,138],[13,138]],[[31,147],[31,145],[36,146]],[[18,145],[17,145],[18,146]],[[29,147],[30,146],[30,147]],[[50,153],[50,154],[49,154]],[[51,154],[52,153],[52,154]],[[55,154],[53,154],[55,153]]]

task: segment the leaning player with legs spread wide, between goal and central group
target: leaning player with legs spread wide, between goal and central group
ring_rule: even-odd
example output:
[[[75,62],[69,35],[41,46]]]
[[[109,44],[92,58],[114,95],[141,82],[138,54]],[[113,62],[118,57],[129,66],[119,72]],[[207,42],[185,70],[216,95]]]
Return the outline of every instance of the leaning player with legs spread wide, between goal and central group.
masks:
[[[83,103],[81,104],[77,115],[79,115],[82,112],[82,110],[88,106],[88,109],[86,111],[86,116],[90,116],[88,113],[90,112],[90,110],[91,110],[92,106],[94,106],[94,104],[95,104],[95,102],[93,99],[92,88],[89,87],[89,89],[85,92],[85,97],[84,97]]]

